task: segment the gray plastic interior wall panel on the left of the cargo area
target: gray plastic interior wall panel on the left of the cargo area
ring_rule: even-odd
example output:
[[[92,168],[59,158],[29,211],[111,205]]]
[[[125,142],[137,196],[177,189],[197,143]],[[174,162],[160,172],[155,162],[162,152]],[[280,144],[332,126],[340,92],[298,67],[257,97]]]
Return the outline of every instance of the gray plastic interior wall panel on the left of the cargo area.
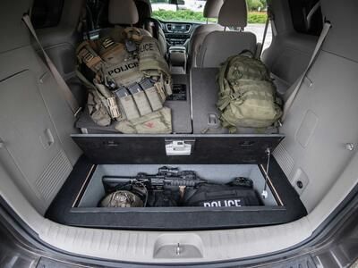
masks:
[[[31,4],[5,0],[0,9],[6,26],[0,42],[0,169],[44,214],[81,150],[70,137],[77,133],[73,113],[21,21]]]

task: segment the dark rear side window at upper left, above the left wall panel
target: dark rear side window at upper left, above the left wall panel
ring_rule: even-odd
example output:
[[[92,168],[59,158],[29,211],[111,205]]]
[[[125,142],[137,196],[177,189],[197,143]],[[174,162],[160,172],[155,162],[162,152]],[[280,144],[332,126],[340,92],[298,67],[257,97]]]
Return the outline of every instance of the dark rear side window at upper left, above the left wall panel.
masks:
[[[35,29],[55,27],[61,20],[64,0],[35,0],[31,21]]]

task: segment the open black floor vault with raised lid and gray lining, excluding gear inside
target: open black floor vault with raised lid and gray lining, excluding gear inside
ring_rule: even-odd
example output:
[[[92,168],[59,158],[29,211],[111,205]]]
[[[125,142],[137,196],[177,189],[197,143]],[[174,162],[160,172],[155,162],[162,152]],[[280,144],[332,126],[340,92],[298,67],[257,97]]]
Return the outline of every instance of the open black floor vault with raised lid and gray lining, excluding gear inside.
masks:
[[[283,135],[72,135],[84,155],[47,217],[74,226],[135,230],[208,230],[292,222],[306,210],[272,152]],[[260,205],[98,207],[103,178],[155,174],[162,166],[196,172],[200,179],[253,181]],[[268,197],[261,193],[267,182]]]

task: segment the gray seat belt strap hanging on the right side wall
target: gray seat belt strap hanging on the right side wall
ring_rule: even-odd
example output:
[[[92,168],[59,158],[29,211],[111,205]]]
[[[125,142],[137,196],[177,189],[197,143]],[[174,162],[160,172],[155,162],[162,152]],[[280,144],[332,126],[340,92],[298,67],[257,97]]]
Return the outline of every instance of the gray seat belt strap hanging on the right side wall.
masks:
[[[310,70],[312,64],[316,60],[316,57],[320,52],[320,48],[323,45],[323,42],[324,42],[325,38],[327,37],[328,31],[329,31],[330,28],[331,28],[331,24],[329,22],[325,22],[324,25],[323,25],[322,32],[320,33],[320,38],[317,41],[317,45],[314,48],[313,54],[311,56],[310,63],[308,63],[306,69],[303,71],[303,74],[300,76],[300,78],[299,78],[299,80],[298,80],[298,82],[297,82],[297,84],[296,84],[296,86],[294,88],[294,91],[291,93],[291,95],[286,100],[286,103],[284,105],[284,113],[283,113],[282,118],[281,118],[281,123],[286,120],[287,113],[290,110],[291,106],[294,104],[294,99],[297,96],[298,91],[300,90],[300,88],[301,88],[301,86],[303,84],[303,80],[306,77],[307,72]]]

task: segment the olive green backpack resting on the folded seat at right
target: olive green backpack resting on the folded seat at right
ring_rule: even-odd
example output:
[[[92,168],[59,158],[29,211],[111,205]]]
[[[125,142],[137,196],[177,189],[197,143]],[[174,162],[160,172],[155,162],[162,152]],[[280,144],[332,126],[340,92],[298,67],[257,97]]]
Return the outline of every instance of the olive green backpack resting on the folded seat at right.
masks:
[[[236,132],[237,128],[277,125],[282,110],[276,87],[265,64],[251,53],[229,57],[219,69],[217,82],[217,107],[223,127]]]

